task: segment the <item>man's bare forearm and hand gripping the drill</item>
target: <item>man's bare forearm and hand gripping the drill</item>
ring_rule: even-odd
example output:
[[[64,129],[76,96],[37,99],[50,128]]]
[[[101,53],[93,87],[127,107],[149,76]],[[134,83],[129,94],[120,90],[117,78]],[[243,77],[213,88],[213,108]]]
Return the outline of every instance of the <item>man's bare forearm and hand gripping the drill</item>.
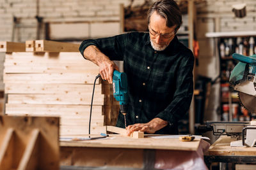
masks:
[[[99,66],[100,76],[103,80],[108,80],[109,83],[113,82],[113,71],[114,69],[119,71],[119,68],[108,56],[100,52],[97,46],[90,45],[85,48],[84,58]]]

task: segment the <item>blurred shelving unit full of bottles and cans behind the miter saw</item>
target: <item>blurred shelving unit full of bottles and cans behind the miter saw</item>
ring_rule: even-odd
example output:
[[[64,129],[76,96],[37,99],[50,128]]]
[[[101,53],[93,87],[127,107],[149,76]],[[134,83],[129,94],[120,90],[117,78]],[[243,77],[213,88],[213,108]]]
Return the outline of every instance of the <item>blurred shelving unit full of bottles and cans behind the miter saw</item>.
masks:
[[[221,120],[249,121],[255,117],[241,106],[237,92],[230,87],[229,77],[232,69],[238,63],[232,58],[232,53],[249,56],[256,53],[256,31],[237,32],[207,32],[207,38],[214,38],[215,50],[220,63],[220,106]],[[239,42],[239,39],[241,41]],[[250,39],[253,39],[253,41]],[[250,43],[249,43],[250,41]],[[250,44],[252,50],[250,51]],[[253,53],[252,53],[253,52]]]

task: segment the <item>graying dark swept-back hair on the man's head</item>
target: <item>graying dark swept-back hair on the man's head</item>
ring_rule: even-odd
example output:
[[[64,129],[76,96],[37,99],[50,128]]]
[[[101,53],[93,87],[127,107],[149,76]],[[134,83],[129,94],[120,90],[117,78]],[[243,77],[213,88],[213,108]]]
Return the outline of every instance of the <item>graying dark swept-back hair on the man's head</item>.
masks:
[[[148,10],[148,25],[150,24],[150,17],[154,11],[156,11],[161,17],[165,18],[167,27],[177,25],[175,28],[175,32],[177,32],[182,24],[182,15],[179,6],[175,1],[157,0],[152,4]]]

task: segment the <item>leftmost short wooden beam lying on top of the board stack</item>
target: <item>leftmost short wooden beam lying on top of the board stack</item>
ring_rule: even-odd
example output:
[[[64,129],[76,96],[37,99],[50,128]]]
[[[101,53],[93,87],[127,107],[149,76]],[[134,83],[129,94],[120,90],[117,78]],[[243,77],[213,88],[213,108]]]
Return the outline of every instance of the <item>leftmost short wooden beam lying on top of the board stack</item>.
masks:
[[[0,41],[0,52],[25,52],[25,43]]]

